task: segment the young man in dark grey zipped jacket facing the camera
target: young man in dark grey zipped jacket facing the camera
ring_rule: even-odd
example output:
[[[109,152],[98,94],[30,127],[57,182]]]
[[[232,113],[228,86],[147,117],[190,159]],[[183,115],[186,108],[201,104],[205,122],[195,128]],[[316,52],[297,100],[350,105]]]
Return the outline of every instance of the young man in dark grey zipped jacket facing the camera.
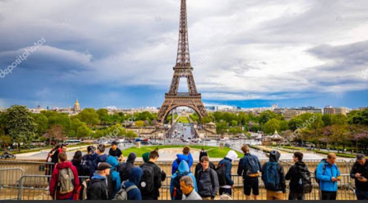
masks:
[[[203,200],[213,200],[219,189],[219,178],[215,170],[209,167],[209,159],[207,156],[201,158],[203,168],[198,172],[197,186],[198,194]]]

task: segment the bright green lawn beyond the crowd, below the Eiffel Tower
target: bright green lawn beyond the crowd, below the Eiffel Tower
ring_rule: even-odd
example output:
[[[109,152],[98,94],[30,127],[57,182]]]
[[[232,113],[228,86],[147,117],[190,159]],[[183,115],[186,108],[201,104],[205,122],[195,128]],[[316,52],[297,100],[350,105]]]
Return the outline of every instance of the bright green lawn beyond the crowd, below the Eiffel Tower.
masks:
[[[159,146],[143,146],[140,149],[137,149],[136,147],[130,147],[128,149],[123,150],[124,157],[127,157],[131,152],[135,152],[137,154],[137,157],[142,157],[142,154],[146,152],[151,152],[158,147],[159,149],[165,149],[165,148],[183,148],[184,145],[159,145]],[[190,148],[192,149],[202,149],[202,147],[207,151],[208,156],[210,158],[223,158],[226,156],[226,154],[231,150],[228,147],[223,147],[223,149],[220,149],[219,147],[213,147],[213,146],[199,146],[199,145],[190,145]],[[243,157],[243,154],[240,152],[237,152],[238,157]]]

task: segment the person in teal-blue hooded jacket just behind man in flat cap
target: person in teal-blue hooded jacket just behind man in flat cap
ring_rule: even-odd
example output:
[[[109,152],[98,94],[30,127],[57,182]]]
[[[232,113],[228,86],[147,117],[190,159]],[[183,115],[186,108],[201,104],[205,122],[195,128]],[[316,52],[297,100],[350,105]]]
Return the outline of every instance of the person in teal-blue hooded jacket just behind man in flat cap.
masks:
[[[121,187],[120,174],[116,171],[116,167],[119,166],[119,162],[117,161],[116,157],[108,156],[106,163],[111,165],[110,175],[107,177],[109,199],[114,199],[115,194],[119,192]]]

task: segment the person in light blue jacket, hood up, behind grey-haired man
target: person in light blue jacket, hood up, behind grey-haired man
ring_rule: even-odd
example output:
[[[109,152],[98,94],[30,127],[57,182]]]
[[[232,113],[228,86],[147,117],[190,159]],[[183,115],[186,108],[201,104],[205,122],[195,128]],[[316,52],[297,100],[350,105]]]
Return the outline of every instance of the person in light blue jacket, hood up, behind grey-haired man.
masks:
[[[189,165],[185,160],[182,160],[178,166],[178,171],[174,173],[170,181],[170,196],[171,200],[181,200],[183,192],[180,190],[180,178],[189,176],[193,179],[193,188],[198,192],[197,181],[194,175],[189,170]]]

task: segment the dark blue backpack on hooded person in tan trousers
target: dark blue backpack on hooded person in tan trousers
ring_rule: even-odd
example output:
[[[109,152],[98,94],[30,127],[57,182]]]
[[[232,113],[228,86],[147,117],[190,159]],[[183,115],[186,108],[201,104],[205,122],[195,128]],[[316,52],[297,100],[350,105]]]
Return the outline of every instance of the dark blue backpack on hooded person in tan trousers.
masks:
[[[262,180],[266,188],[279,188],[280,174],[277,171],[277,162],[266,163],[265,170],[262,171]]]

